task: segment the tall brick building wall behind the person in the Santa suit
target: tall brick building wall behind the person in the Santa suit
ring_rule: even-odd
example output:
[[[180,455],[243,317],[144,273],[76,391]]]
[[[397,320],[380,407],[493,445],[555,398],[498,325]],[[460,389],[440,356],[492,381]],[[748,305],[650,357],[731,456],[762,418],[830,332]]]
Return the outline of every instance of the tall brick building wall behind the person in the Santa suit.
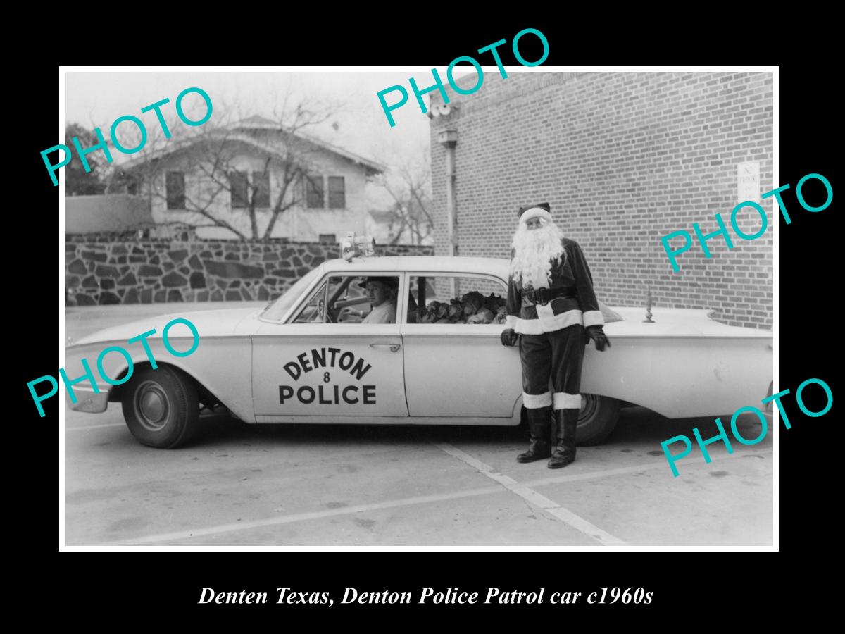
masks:
[[[771,328],[771,199],[761,238],[731,232],[733,249],[714,238],[709,260],[694,241],[678,273],[660,243],[696,221],[715,231],[717,212],[730,227],[739,162],[760,162],[761,192],[779,184],[771,74],[487,73],[472,96],[450,92],[450,105],[431,126],[436,254],[448,249],[437,138],[449,127],[458,133],[459,255],[508,257],[515,211],[548,201],[584,248],[602,301],[643,305],[650,288],[656,307],[714,308],[730,325]],[[739,218],[746,233],[760,227],[752,211]]]

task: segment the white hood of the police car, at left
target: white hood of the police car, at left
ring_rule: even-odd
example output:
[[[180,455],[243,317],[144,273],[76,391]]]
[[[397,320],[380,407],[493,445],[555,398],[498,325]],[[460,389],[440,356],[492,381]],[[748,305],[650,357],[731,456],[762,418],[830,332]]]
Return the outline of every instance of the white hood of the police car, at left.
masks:
[[[161,338],[161,331],[164,326],[175,319],[188,320],[197,329],[200,337],[205,336],[227,336],[235,334],[237,325],[249,316],[259,314],[261,309],[254,306],[243,309],[221,309],[221,310],[196,310],[193,312],[161,314],[145,317],[141,320],[130,321],[127,324],[116,325],[104,328],[88,336],[80,338],[73,343],[73,346],[85,346],[97,342],[126,342],[134,336],[155,329],[155,335],[151,339]],[[180,332],[184,326],[176,326]],[[175,333],[175,331],[174,331]]]

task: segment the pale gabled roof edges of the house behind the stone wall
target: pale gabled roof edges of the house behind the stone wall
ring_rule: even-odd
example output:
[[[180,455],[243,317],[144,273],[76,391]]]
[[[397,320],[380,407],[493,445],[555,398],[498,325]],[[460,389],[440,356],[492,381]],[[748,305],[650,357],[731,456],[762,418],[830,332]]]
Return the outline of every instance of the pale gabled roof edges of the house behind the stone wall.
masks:
[[[342,156],[347,161],[352,161],[353,163],[357,163],[358,165],[363,166],[368,176],[373,176],[375,174],[379,174],[387,170],[387,167],[384,166],[382,163],[377,161],[372,161],[364,156],[360,156],[355,154],[350,150],[346,150],[345,148],[340,147],[339,145],[333,145],[324,141],[323,139],[318,139],[317,137],[313,137],[310,134],[304,134],[303,132],[296,131],[291,132],[287,130],[281,124],[276,123],[268,118],[264,118],[260,115],[253,115],[252,117],[248,117],[238,121],[237,123],[232,123],[231,125],[226,127],[228,130],[228,138],[236,141],[240,141],[246,145],[252,145],[257,150],[262,150],[269,154],[279,156],[284,158],[284,154],[276,147],[271,144],[264,143],[259,139],[255,139],[253,136],[249,134],[245,134],[244,132],[240,132],[241,130],[251,130],[251,129],[266,129],[266,130],[278,130],[280,132],[284,132],[286,134],[292,134],[292,136],[296,137],[297,139],[302,139],[303,141],[307,141],[313,145],[317,145],[318,147],[333,152],[338,156]],[[138,156],[134,159],[126,161],[123,163],[123,167],[126,169],[132,169],[135,166],[138,166],[142,163],[152,161],[154,159],[160,159],[163,156],[170,155],[178,150],[182,150],[183,148],[189,147],[190,145],[194,145],[199,139],[207,139],[207,136],[204,137],[194,137],[194,138],[187,138],[181,139],[175,143],[168,143],[165,147],[155,150],[150,153],[145,153],[144,156]]]

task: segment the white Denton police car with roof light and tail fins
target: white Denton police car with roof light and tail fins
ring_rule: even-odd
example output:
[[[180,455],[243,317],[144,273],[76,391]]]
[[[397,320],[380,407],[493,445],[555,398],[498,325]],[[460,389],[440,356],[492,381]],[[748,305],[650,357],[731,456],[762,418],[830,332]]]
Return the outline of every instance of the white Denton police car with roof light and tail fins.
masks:
[[[85,337],[67,348],[68,368],[150,328],[157,367],[141,346],[127,347],[130,380],[97,378],[99,391],[69,407],[103,412],[122,402],[136,439],[166,448],[186,443],[202,424],[200,411],[218,407],[248,423],[521,423],[519,350],[499,339],[508,260],[374,257],[372,243],[354,237],[343,255],[264,309],[172,314]],[[363,285],[372,277],[395,294],[392,323],[365,321]],[[655,309],[644,320],[644,308],[601,308],[613,347],[586,349],[579,444],[602,442],[626,405],[668,418],[720,416],[766,396],[770,331],[723,325],[703,310]],[[190,356],[162,347],[158,333],[174,317],[199,333]],[[120,354],[104,363],[108,376],[128,373]]]

